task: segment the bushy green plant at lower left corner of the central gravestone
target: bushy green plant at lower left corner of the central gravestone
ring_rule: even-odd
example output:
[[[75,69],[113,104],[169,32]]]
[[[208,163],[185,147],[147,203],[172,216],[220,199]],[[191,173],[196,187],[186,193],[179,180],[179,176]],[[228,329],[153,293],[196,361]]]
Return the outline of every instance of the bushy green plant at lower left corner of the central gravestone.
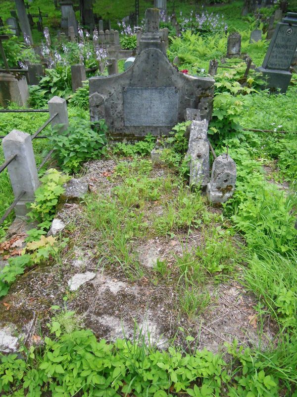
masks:
[[[78,172],[84,161],[102,155],[107,126],[104,120],[94,125],[92,130],[89,121],[74,118],[67,130],[51,134],[49,139],[54,150],[53,157],[63,171]]]

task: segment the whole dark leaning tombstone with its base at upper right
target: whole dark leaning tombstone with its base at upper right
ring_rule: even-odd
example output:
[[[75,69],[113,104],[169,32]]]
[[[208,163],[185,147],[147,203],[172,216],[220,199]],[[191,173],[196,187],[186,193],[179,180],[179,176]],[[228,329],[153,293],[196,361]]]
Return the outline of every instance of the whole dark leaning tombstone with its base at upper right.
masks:
[[[266,79],[265,87],[284,93],[290,84],[290,66],[297,47],[297,13],[289,12],[278,22],[262,66],[257,70]]]

